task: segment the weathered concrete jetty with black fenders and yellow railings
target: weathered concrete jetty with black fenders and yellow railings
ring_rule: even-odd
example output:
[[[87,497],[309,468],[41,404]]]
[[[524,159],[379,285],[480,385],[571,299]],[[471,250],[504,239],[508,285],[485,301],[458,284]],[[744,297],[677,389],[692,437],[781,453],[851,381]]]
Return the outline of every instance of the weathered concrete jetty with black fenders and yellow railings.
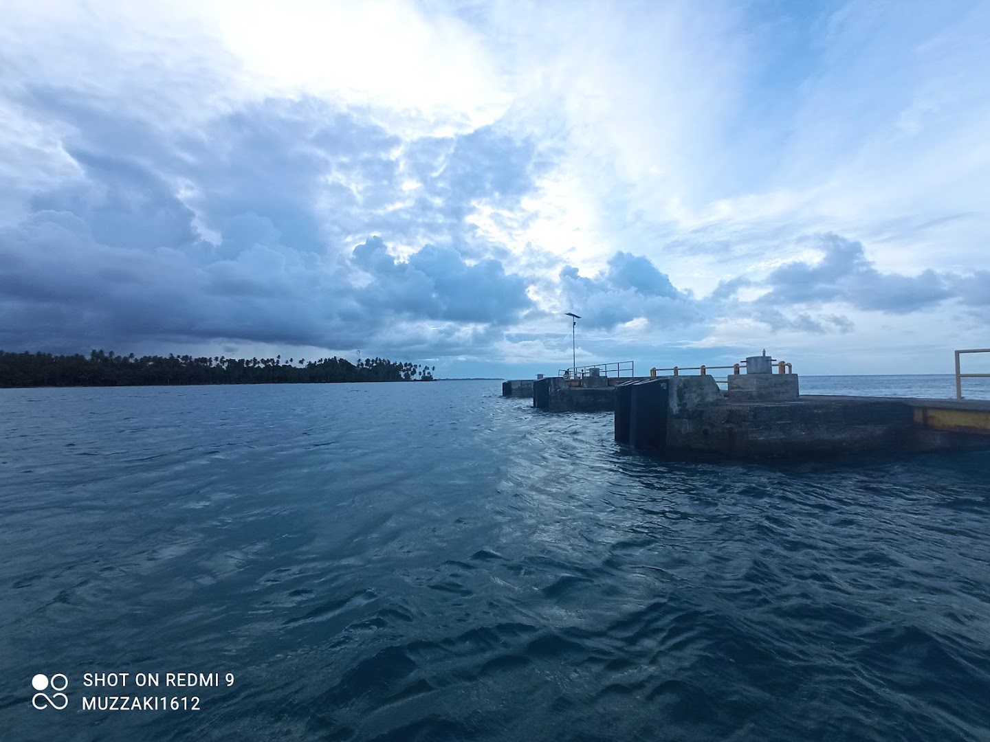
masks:
[[[765,351],[718,367],[733,371],[725,390],[708,373],[716,367],[637,377],[631,363],[628,376],[604,375],[605,365],[534,381],[533,406],[614,411],[616,441],[652,451],[765,459],[990,448],[990,401],[802,396],[790,364]]]

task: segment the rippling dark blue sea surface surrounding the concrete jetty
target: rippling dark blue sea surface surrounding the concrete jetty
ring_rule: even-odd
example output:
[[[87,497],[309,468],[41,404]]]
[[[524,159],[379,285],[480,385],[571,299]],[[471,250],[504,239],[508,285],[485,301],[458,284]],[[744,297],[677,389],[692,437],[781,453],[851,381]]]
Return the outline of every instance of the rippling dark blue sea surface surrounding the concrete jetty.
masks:
[[[990,740],[990,453],[679,462],[499,393],[0,390],[0,740]]]

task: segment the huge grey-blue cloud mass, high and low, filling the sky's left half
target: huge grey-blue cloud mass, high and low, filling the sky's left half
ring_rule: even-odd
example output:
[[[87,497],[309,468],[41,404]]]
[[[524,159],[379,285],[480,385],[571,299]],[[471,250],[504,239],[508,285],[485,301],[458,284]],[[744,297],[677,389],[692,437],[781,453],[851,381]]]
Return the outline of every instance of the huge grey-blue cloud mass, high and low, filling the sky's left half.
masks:
[[[533,148],[486,129],[403,142],[312,101],[269,100],[196,136],[128,120],[98,100],[27,96],[71,130],[80,176],[0,230],[0,346],[84,349],[264,341],[400,350],[407,335],[463,352],[532,309],[462,218],[472,200],[522,198]],[[403,160],[403,150],[409,159]],[[420,179],[410,202],[403,179]],[[387,228],[382,230],[381,228]],[[435,236],[408,261],[378,237]],[[494,330],[493,330],[494,332]]]

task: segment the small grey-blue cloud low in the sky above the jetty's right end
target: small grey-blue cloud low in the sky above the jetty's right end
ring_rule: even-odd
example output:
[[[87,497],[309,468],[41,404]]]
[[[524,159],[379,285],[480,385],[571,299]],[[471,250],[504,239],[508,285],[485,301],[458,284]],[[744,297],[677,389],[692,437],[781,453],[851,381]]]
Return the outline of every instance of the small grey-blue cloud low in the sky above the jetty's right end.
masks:
[[[908,314],[952,296],[945,277],[935,271],[918,276],[881,273],[866,258],[862,244],[838,234],[821,236],[819,246],[824,256],[818,263],[787,263],[770,273],[766,301],[839,301],[862,310]]]

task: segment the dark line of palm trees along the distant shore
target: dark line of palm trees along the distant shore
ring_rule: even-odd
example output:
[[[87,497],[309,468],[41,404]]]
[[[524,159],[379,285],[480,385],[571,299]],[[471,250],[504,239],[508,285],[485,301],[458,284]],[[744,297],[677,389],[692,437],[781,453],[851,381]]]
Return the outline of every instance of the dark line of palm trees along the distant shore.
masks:
[[[387,358],[306,360],[227,358],[222,355],[117,355],[93,350],[89,357],[0,350],[0,387],[116,387],[166,384],[333,384],[433,381],[436,366]]]

